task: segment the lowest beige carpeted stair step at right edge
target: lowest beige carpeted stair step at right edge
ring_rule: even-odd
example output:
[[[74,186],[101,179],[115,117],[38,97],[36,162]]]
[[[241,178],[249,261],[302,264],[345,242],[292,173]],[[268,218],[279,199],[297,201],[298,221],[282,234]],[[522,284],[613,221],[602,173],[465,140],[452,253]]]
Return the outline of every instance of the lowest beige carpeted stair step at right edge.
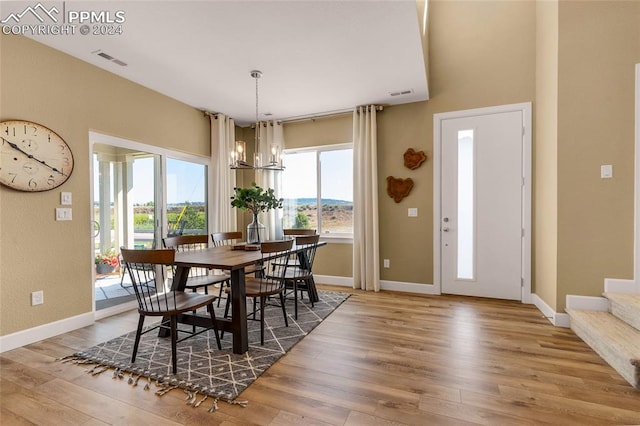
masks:
[[[640,330],[609,312],[567,309],[571,329],[633,387],[640,388]]]

